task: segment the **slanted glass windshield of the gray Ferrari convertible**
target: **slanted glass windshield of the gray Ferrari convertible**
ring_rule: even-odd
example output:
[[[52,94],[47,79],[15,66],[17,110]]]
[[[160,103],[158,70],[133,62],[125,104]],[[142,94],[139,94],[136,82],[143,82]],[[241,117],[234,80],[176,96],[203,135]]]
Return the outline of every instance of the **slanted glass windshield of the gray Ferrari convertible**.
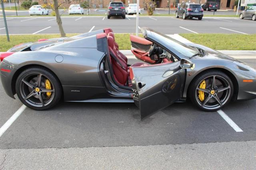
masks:
[[[156,32],[154,30],[150,30],[153,37],[156,37],[158,40],[157,42],[162,42],[161,45],[166,44],[168,49],[174,49],[176,52],[186,56],[191,57],[192,55],[198,53],[198,50],[195,48],[192,48],[184,43],[181,43],[173,38],[170,38],[169,36],[166,36],[165,34],[162,34],[160,32]],[[174,51],[172,51],[174,52]],[[176,54],[177,55],[177,54]]]

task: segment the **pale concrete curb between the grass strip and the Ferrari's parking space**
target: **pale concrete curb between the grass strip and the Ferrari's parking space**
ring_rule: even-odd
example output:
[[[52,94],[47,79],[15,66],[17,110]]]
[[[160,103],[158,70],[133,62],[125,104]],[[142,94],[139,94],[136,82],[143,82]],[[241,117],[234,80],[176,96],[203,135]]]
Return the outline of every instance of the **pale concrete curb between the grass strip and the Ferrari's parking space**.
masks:
[[[133,55],[131,50],[120,50],[124,55]],[[256,51],[250,50],[217,50],[225,55],[252,55],[256,58]]]

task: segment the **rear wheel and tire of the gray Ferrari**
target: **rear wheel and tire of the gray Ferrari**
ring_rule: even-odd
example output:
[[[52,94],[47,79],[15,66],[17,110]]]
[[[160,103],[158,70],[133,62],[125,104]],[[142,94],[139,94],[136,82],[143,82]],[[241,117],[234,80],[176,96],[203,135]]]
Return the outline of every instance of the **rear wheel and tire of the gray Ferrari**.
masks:
[[[62,97],[60,81],[44,67],[30,67],[22,71],[17,78],[15,88],[20,101],[35,110],[50,109]]]

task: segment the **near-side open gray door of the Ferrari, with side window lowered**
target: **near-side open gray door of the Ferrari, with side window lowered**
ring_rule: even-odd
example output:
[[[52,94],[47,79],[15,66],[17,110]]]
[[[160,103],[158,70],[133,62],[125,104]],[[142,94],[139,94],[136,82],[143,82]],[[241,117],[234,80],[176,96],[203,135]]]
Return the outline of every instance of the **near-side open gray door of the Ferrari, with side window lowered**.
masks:
[[[131,67],[132,97],[141,119],[181,99],[186,69],[180,62]]]

